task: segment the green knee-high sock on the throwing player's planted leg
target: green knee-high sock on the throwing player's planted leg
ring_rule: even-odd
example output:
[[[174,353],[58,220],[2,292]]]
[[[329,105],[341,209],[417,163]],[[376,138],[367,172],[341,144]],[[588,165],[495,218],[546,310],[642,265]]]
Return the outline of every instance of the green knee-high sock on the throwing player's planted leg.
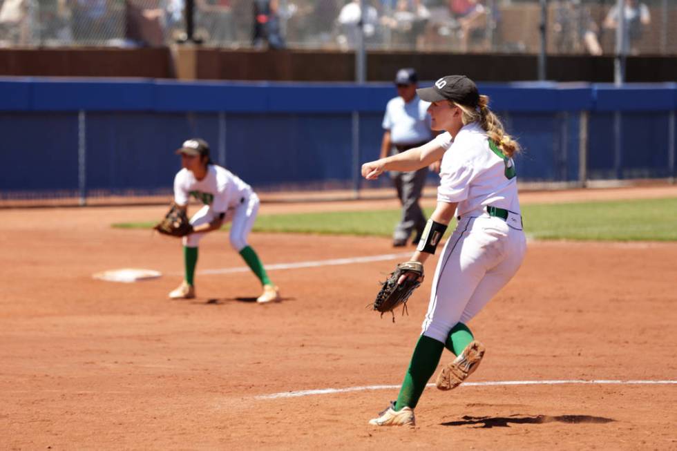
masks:
[[[444,351],[444,343],[435,340],[435,338],[421,335],[414,348],[407,374],[404,375],[402,388],[395,403],[395,410],[400,410],[406,406],[412,409],[416,407],[423,389],[426,388],[428,380],[437,368],[442,351]]]

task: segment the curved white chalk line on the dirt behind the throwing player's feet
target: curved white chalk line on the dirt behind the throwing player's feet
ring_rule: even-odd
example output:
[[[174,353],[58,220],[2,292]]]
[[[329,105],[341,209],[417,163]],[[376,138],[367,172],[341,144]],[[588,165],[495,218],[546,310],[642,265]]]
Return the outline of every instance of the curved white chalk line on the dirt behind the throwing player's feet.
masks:
[[[583,381],[572,379],[569,381],[487,381],[487,382],[466,382],[461,387],[496,387],[504,385],[564,385],[564,384],[615,384],[615,385],[665,385],[677,384],[677,381],[616,381],[607,379],[598,379],[593,381]],[[427,387],[434,387],[434,383],[429,383]],[[345,388],[321,388],[317,390],[299,390],[297,392],[280,392],[272,394],[262,394],[255,396],[255,399],[279,399],[279,398],[298,398],[301,396],[312,396],[314,394],[334,394],[348,392],[363,392],[366,390],[392,390],[399,388],[399,385],[363,385],[362,387]]]

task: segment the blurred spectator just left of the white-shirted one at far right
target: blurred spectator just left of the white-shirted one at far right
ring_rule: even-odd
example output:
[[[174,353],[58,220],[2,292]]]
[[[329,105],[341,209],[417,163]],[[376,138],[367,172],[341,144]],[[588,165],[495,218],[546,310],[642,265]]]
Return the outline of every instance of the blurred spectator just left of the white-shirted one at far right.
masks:
[[[555,50],[559,53],[587,51],[602,55],[598,39],[599,28],[593,21],[590,9],[580,0],[560,0],[555,4]]]

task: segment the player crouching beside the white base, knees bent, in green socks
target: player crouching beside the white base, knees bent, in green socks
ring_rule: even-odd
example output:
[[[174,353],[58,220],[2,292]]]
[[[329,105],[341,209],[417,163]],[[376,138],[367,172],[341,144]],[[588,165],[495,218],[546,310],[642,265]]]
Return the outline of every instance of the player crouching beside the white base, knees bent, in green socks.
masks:
[[[247,244],[247,236],[258,213],[256,193],[236,175],[211,162],[209,144],[204,140],[187,140],[176,153],[181,155],[183,169],[174,177],[175,204],[187,209],[189,198],[193,196],[204,205],[191,218],[194,233],[182,238],[185,278],[177,289],[169,293],[169,298],[195,297],[198,244],[205,233],[218,230],[222,224],[230,221],[231,247],[240,253],[263,285],[263,294],[257,298],[257,302],[280,300],[278,287],[271,282],[256,252]]]

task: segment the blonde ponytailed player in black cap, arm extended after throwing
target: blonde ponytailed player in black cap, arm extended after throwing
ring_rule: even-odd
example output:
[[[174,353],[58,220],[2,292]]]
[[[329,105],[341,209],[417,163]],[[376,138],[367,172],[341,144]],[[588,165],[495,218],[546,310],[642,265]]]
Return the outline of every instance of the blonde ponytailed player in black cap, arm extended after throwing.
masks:
[[[445,347],[457,358],[442,368],[437,388],[457,387],[475,371],[484,345],[467,323],[511,280],[526,251],[512,159],[519,146],[488,108],[488,97],[461,75],[417,92],[432,102],[432,129],[445,133],[364,164],[362,175],[372,180],[383,171],[415,171],[442,159],[437,208],[411,260],[425,262],[450,220],[458,223],[437,262],[428,313],[397,401],[370,421],[379,426],[414,425],[414,407]]]

